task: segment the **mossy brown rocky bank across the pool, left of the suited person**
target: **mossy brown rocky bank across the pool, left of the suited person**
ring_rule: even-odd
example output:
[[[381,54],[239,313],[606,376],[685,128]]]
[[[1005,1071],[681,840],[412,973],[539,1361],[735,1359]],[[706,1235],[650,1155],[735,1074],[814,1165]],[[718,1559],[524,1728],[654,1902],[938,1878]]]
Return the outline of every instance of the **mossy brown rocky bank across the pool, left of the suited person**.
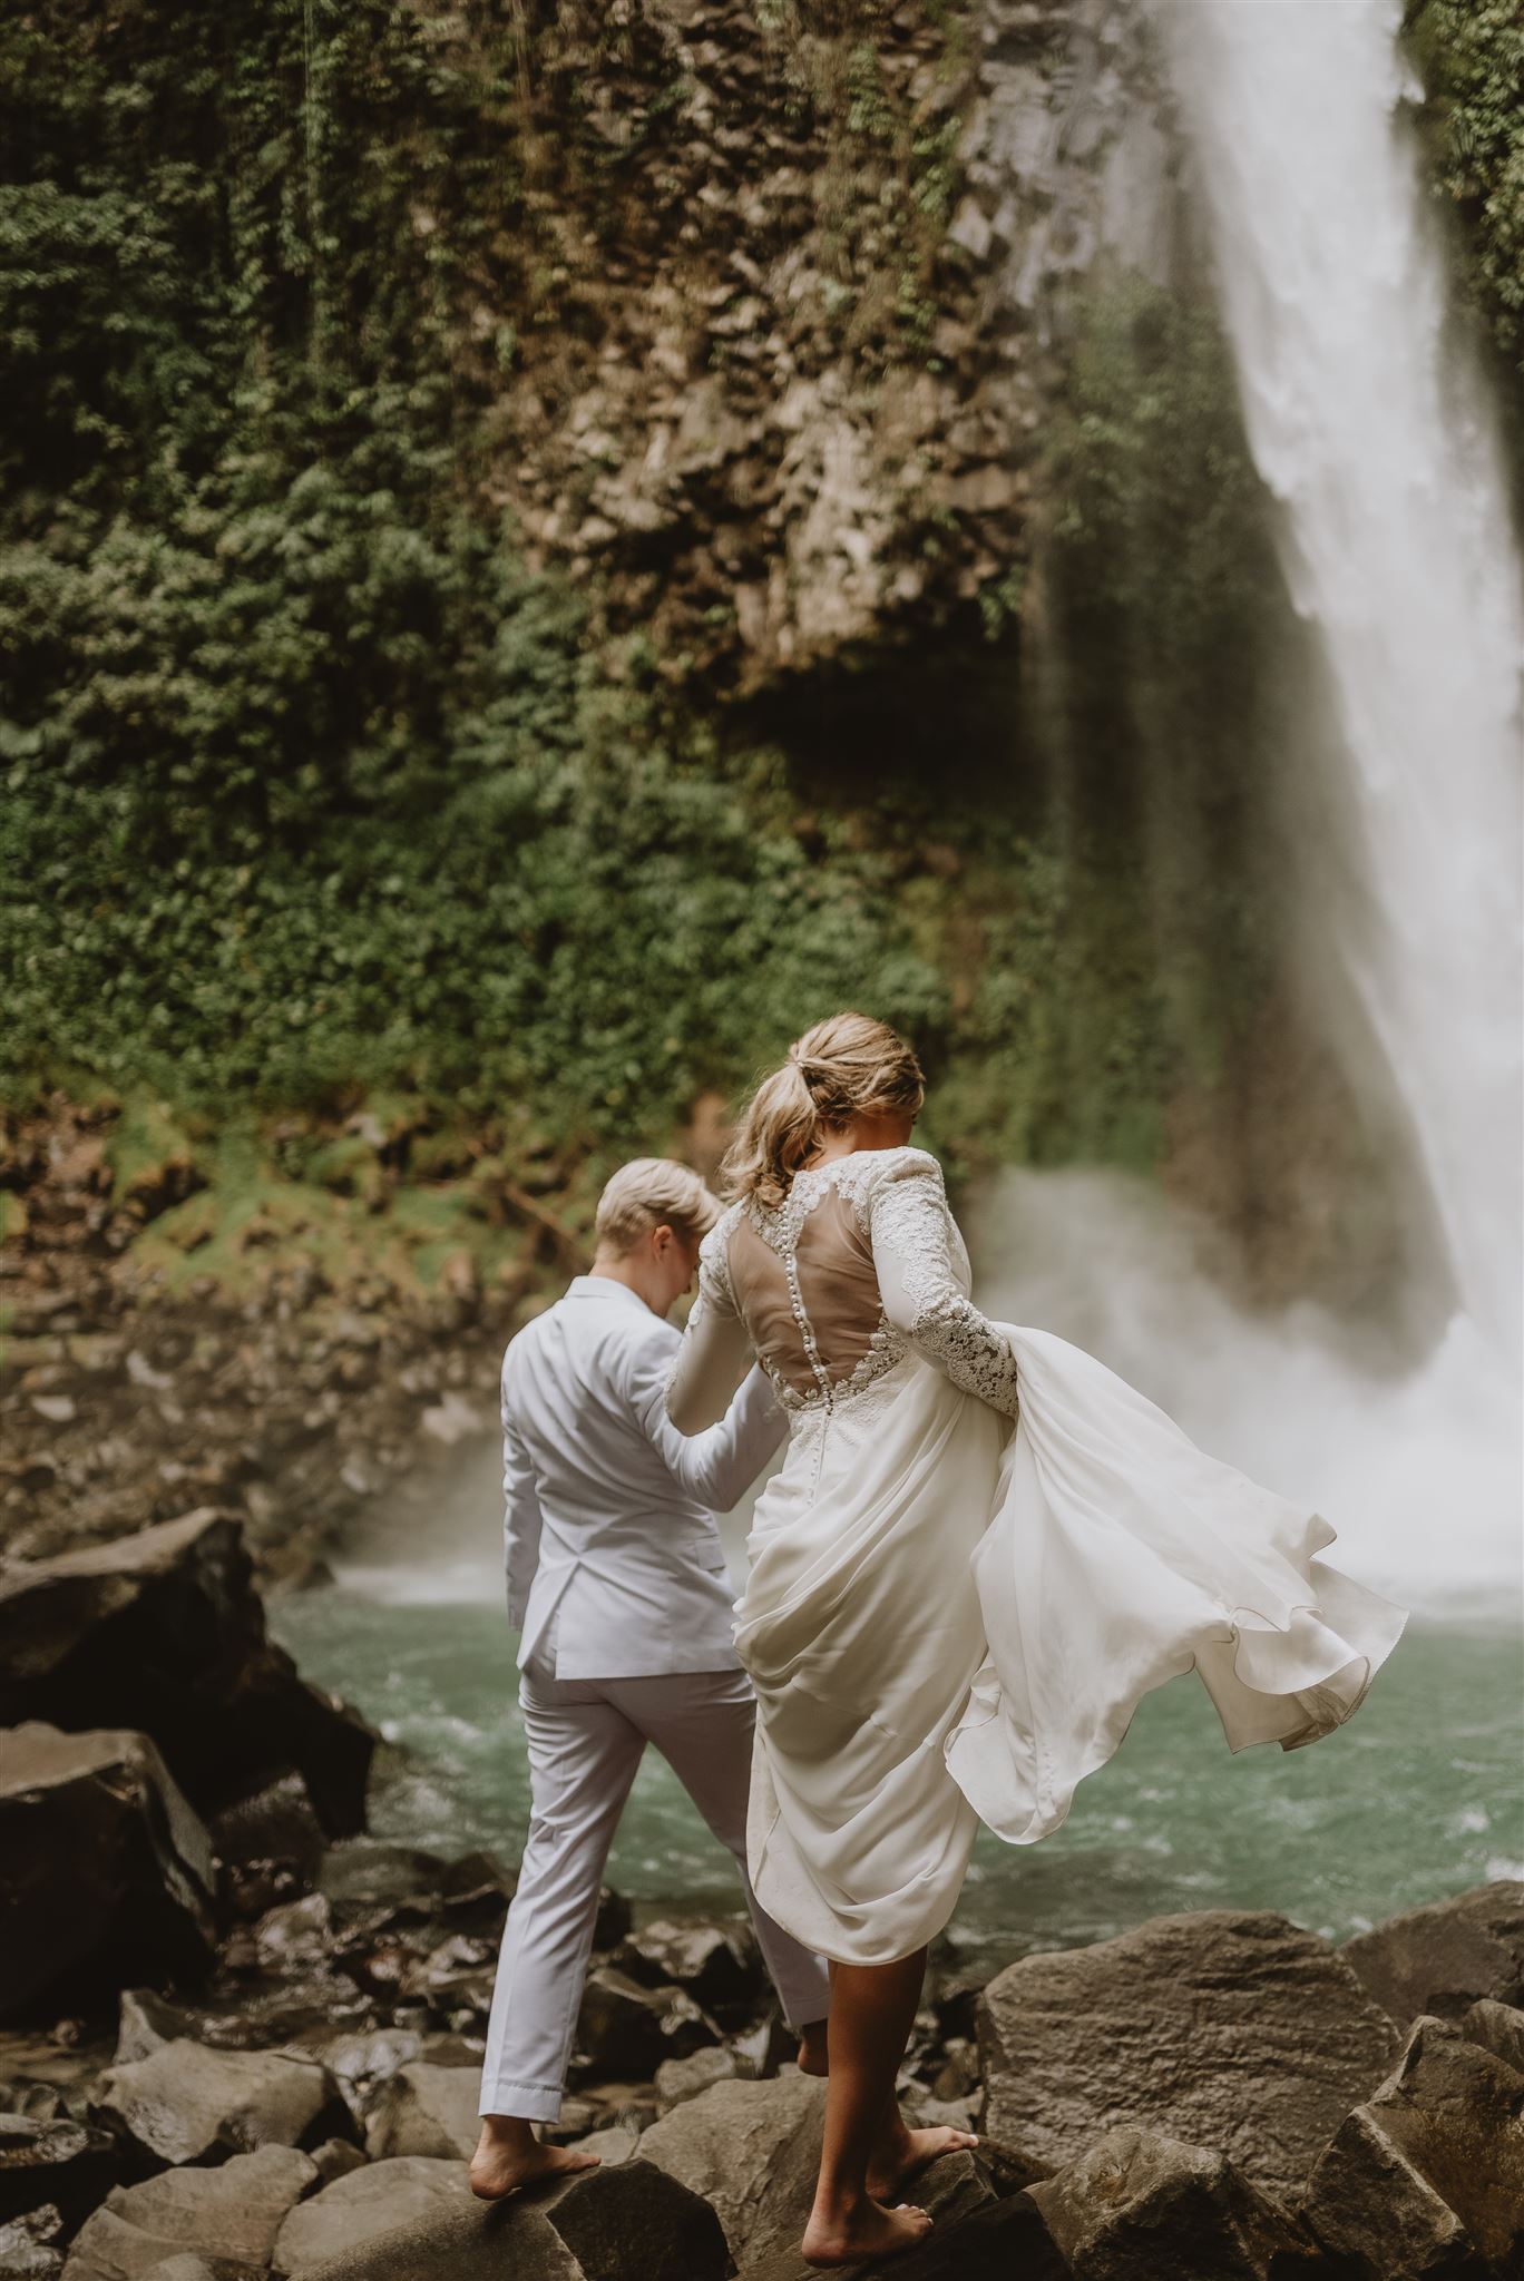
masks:
[[[584,1264],[577,1234],[534,1166],[454,1161],[374,1113],[301,1131],[319,1143],[322,1179],[230,1198],[157,1111],[0,1111],[0,1551],[43,1560],[212,1503],[260,1583],[299,1588],[383,1499],[427,1510],[495,1432],[502,1348]],[[424,1280],[397,1220],[463,1241],[424,1250]]]

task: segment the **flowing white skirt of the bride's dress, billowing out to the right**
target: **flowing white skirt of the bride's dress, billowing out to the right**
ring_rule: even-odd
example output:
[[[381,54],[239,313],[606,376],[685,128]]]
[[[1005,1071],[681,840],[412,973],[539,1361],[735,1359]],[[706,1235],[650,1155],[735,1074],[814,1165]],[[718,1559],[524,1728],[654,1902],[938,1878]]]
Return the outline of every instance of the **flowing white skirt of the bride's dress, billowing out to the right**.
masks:
[[[1084,1348],[1015,1346],[1015,1428],[910,1355],[799,1414],[757,1499],[737,1654],[748,1857],[810,1948],[887,1964],[949,1921],[983,1820],[1031,1845],[1152,1688],[1200,1672],[1232,1752],[1364,1699],[1408,1610],[1316,1512],[1207,1458]]]

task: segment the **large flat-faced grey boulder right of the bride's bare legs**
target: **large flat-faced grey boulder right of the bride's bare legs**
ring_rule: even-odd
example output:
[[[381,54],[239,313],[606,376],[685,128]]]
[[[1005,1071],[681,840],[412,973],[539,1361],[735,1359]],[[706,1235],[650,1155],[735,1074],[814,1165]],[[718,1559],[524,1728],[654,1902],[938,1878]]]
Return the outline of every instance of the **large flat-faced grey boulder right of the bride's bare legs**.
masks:
[[[1339,1953],[1268,1911],[1154,1916],[1022,1957],[979,2005],[983,2130],[1033,2172],[1132,2124],[1294,2194],[1399,2035]]]

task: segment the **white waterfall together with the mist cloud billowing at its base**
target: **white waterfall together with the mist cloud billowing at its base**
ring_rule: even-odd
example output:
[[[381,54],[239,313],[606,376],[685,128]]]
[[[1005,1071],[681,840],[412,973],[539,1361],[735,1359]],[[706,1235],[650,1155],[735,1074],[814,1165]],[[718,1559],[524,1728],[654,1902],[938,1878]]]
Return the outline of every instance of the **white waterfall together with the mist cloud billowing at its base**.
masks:
[[[1006,1182],[999,1312],[1093,1346],[1316,1503],[1364,1576],[1483,1617],[1519,1578],[1524,593],[1403,94],[1399,0],[1154,0],[1250,449],[1321,639],[1344,782],[1298,787],[1310,944],[1405,1104],[1451,1309],[1405,1385],[1294,1309],[1248,1323],[1184,1220],[1104,1175]],[[1294,755],[1287,755],[1291,764]],[[1335,1036],[1355,1083],[1364,1045]]]

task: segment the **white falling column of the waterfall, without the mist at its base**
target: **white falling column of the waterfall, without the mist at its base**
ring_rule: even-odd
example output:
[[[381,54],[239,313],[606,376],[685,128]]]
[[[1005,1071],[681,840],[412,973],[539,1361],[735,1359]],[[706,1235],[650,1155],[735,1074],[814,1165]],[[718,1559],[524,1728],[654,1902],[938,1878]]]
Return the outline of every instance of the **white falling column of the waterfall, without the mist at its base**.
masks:
[[[1517,1366],[1524,595],[1401,112],[1401,0],[1161,0],[1161,21],[1346,771],[1346,844],[1307,846],[1303,892],[1405,1104],[1458,1309]]]

